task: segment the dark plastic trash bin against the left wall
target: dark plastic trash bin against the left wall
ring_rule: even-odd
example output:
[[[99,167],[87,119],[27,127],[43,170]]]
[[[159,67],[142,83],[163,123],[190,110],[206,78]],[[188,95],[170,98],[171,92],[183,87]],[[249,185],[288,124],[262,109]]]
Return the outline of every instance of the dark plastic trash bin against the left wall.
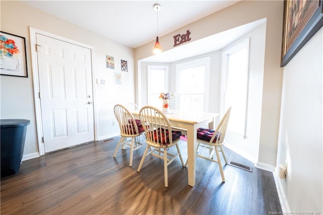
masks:
[[[1,121],[1,178],[19,172],[24,153],[29,120],[6,119]]]

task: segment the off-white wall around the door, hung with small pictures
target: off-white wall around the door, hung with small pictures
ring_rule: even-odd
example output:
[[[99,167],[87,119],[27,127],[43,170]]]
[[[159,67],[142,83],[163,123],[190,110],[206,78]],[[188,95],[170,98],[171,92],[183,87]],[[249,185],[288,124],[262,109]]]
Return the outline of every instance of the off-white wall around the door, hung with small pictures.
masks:
[[[13,16],[13,11],[19,16]],[[1,2],[1,31],[26,38],[28,78],[0,76],[1,119],[22,118],[31,121],[27,126],[24,157],[38,155],[38,142],[33,96],[29,26],[66,37],[94,47],[94,78],[104,79],[105,89],[94,86],[97,137],[104,139],[119,133],[113,106],[118,102],[134,101],[134,49],[102,37],[58,17],[46,14],[17,1]],[[115,70],[105,66],[105,55],[115,58]],[[128,72],[121,72],[120,60],[128,62]],[[114,72],[122,73],[122,85],[114,84]],[[23,90],[21,90],[23,89]]]

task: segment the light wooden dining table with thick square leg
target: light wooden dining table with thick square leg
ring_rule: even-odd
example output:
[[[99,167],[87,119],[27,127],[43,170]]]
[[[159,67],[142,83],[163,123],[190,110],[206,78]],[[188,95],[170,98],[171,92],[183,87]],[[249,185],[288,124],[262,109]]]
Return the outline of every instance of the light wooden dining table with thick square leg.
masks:
[[[135,119],[139,119],[139,111],[133,110]],[[197,111],[176,111],[170,110],[169,113],[164,113],[172,128],[184,131],[187,136],[187,162],[188,162],[188,185],[194,187],[196,174],[196,130],[200,127],[208,125],[208,128],[214,129],[217,113],[197,112]]]

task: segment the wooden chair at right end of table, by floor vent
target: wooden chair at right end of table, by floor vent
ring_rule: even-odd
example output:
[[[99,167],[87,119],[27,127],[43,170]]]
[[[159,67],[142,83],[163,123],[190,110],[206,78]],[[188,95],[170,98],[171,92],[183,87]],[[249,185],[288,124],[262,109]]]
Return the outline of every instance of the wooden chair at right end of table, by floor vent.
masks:
[[[229,117],[231,113],[231,108],[230,107],[226,114],[223,116],[221,122],[218,125],[218,128],[216,130],[212,129],[205,129],[205,128],[198,128],[197,129],[197,150],[196,150],[196,156],[201,157],[207,160],[210,160],[211,162],[217,163],[219,165],[222,181],[226,182],[224,173],[223,173],[223,167],[221,164],[221,159],[220,159],[220,154],[219,151],[222,152],[223,158],[228,164],[227,157],[225,155],[223,145],[226,143],[225,142],[225,136],[227,132],[227,126],[229,122]],[[207,152],[208,156],[204,155],[205,149],[208,149]],[[217,159],[214,157],[214,152],[217,155]],[[187,162],[185,164],[187,166]]]

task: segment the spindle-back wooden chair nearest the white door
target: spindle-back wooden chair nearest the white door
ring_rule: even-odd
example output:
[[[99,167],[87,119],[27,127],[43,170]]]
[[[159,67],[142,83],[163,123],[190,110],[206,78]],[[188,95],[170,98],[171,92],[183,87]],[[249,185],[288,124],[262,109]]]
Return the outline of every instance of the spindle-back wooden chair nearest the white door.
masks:
[[[122,145],[122,149],[126,148],[125,144],[129,145],[130,146],[129,166],[131,167],[133,151],[139,149],[141,146],[144,145],[144,142],[143,143],[137,142],[135,138],[139,137],[144,132],[144,129],[140,121],[135,120],[134,116],[122,104],[116,104],[114,106],[114,113],[119,123],[121,137],[113,156],[116,157],[116,154],[120,145]],[[128,141],[128,137],[131,138],[131,143],[129,143],[130,140]]]

